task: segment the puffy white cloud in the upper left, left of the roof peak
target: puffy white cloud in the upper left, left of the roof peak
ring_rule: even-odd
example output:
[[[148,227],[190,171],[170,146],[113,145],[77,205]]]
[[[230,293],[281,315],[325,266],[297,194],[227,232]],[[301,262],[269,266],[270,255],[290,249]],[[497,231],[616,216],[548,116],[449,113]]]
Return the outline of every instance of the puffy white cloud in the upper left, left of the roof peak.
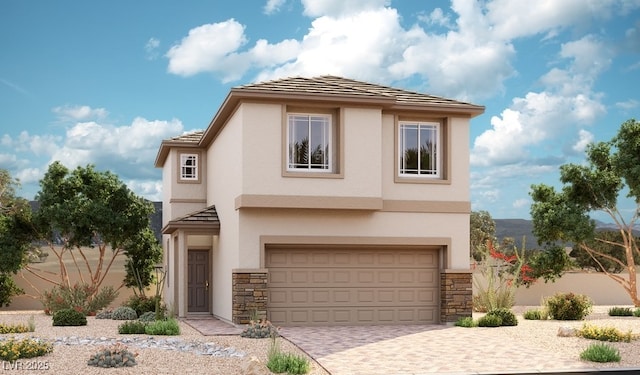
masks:
[[[234,19],[196,27],[167,52],[168,70],[185,77],[200,72],[235,76],[246,70],[235,54],[246,42],[244,26]]]

